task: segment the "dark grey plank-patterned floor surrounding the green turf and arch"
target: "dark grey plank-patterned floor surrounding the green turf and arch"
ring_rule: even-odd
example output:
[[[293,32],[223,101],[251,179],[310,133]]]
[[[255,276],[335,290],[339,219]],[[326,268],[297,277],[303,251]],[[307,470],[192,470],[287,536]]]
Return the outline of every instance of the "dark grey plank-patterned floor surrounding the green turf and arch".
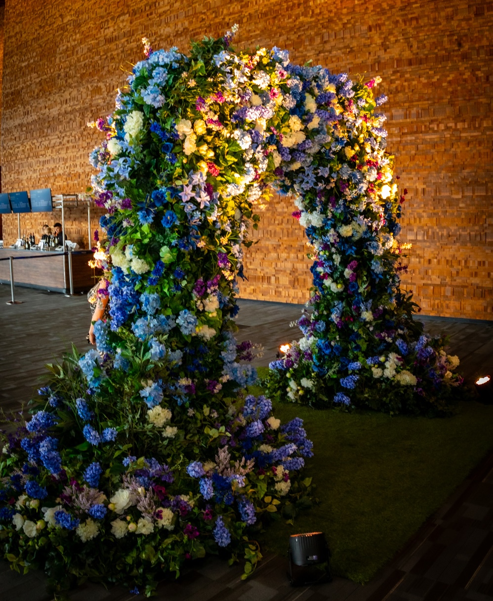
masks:
[[[20,305],[6,305],[10,287],[0,285],[0,407],[19,410],[40,385],[43,366],[87,343],[89,309],[85,296],[65,297],[16,288]],[[303,307],[240,301],[239,341],[264,346],[256,365],[267,365],[277,346],[298,337],[289,327]],[[431,334],[450,335],[450,352],[459,355],[464,376],[493,372],[493,322],[420,317]],[[493,424],[492,424],[493,441]],[[287,543],[286,543],[287,545]],[[268,555],[249,581],[241,568],[209,558],[178,581],[163,582],[157,599],[166,601],[458,601],[493,599],[493,453],[453,493],[406,548],[364,587],[342,578],[330,584],[292,588],[285,558]],[[126,601],[121,588],[109,591],[88,584],[73,592],[73,601]],[[50,601],[44,575],[19,576],[0,561],[0,601]]]

